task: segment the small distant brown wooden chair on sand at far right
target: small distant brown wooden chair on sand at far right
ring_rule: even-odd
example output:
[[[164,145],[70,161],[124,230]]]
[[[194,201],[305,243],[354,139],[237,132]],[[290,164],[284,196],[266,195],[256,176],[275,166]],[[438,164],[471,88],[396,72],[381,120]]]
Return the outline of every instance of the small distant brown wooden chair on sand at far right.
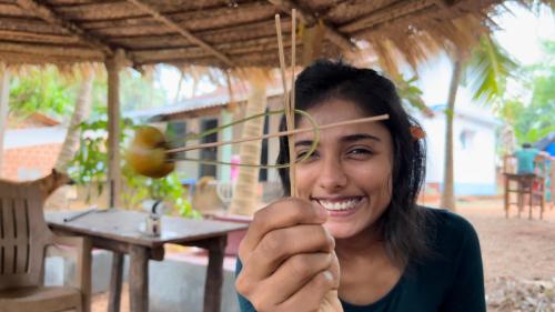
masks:
[[[508,218],[511,204],[516,204],[517,215],[521,218],[521,212],[525,205],[528,207],[528,219],[532,219],[532,209],[537,203],[539,205],[539,220],[544,217],[545,209],[545,178],[542,173],[516,173],[514,165],[514,157],[506,155],[504,158],[503,175],[505,178],[505,218]],[[537,163],[539,168],[543,163]],[[511,201],[511,194],[516,194],[516,202]],[[525,202],[526,201],[526,202]]]

